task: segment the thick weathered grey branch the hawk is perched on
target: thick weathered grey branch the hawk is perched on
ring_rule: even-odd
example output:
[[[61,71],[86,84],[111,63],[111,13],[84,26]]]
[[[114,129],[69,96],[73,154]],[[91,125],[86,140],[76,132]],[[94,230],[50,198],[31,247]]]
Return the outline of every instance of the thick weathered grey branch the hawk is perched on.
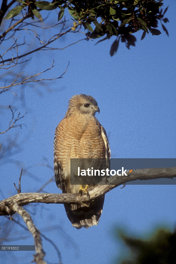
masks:
[[[147,170],[147,169],[145,169]],[[136,180],[152,180],[176,177],[176,167],[173,168],[154,168],[148,169],[148,173],[135,173],[131,172],[127,176],[111,176],[104,181],[101,181],[99,185],[93,186],[89,189],[90,199],[86,194],[81,197],[78,194],[41,194],[41,193],[22,193],[16,194],[10,198],[0,201],[0,215],[7,215],[5,205],[7,202],[14,201],[20,206],[24,206],[30,203],[45,203],[45,204],[86,204],[86,202],[92,201],[98,196],[106,194],[117,186],[124,185],[124,183]]]

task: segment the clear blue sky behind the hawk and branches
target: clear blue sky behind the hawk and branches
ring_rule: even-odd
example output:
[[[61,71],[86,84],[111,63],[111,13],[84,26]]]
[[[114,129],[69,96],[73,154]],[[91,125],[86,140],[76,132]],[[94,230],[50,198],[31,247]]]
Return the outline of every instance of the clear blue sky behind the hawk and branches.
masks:
[[[54,59],[55,67],[42,78],[55,78],[65,71],[70,61],[62,79],[15,87],[12,90],[17,96],[10,92],[1,94],[1,131],[6,129],[11,118],[10,111],[3,106],[11,105],[22,114],[28,113],[22,120],[26,127],[11,129],[1,135],[2,143],[17,137],[21,152],[0,160],[0,199],[16,194],[13,182],[18,183],[21,168],[24,170],[22,192],[37,191],[53,176],[52,169],[34,165],[45,161],[53,167],[55,128],[65,116],[68,100],[75,94],[92,95],[97,100],[100,114],[96,116],[109,137],[112,158],[176,158],[176,3],[165,0],[165,7],[168,4],[166,17],[170,23],[165,26],[169,38],[159,23],[162,34],[149,34],[141,41],[142,31],[139,31],[135,34],[136,47],[128,50],[124,43],[120,43],[113,57],[109,50],[115,38],[97,45],[94,45],[96,40],[80,41],[64,50],[40,51],[31,56],[25,69],[20,65],[19,72],[25,70],[30,75],[49,68]],[[52,16],[56,21],[55,11]],[[57,30],[52,29],[51,34]],[[70,33],[55,46],[62,48],[79,38],[84,35]],[[28,36],[27,40],[33,45]],[[4,86],[4,79],[0,82]],[[25,103],[20,100],[23,94]],[[30,173],[25,174],[25,169]],[[55,182],[44,191],[61,192]],[[41,233],[56,243],[64,264],[84,261],[103,264],[111,263],[116,255],[121,255],[123,245],[114,238],[116,227],[140,236],[160,225],[173,230],[176,224],[175,200],[175,185],[118,187],[106,194],[98,226],[80,230],[72,227],[63,205],[30,204],[25,208]],[[20,220],[18,216],[14,217]],[[1,232],[4,221],[5,218],[1,217]],[[33,244],[33,238],[22,228],[14,225],[12,232],[15,237],[19,234],[27,236],[27,240],[21,239],[16,244]],[[58,263],[52,245],[43,240],[43,248],[46,261]],[[9,257],[6,253],[0,254],[2,263],[9,263],[12,254],[14,263],[32,260],[32,254],[26,252],[8,253]],[[18,256],[23,256],[23,261],[18,260]]]

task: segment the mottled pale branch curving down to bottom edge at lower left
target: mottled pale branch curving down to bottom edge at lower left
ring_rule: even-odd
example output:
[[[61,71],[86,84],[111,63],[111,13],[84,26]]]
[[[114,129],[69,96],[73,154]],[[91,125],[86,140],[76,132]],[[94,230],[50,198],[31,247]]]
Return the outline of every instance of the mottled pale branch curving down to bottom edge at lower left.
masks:
[[[34,261],[38,264],[46,264],[45,260],[43,259],[45,256],[45,252],[42,248],[40,232],[35,227],[30,214],[14,201],[7,202],[5,208],[7,213],[9,213],[10,215],[14,212],[17,212],[23,218],[24,222],[26,223],[26,226],[28,227],[29,231],[31,232],[34,238],[35,251],[37,253],[36,255],[34,255]]]

